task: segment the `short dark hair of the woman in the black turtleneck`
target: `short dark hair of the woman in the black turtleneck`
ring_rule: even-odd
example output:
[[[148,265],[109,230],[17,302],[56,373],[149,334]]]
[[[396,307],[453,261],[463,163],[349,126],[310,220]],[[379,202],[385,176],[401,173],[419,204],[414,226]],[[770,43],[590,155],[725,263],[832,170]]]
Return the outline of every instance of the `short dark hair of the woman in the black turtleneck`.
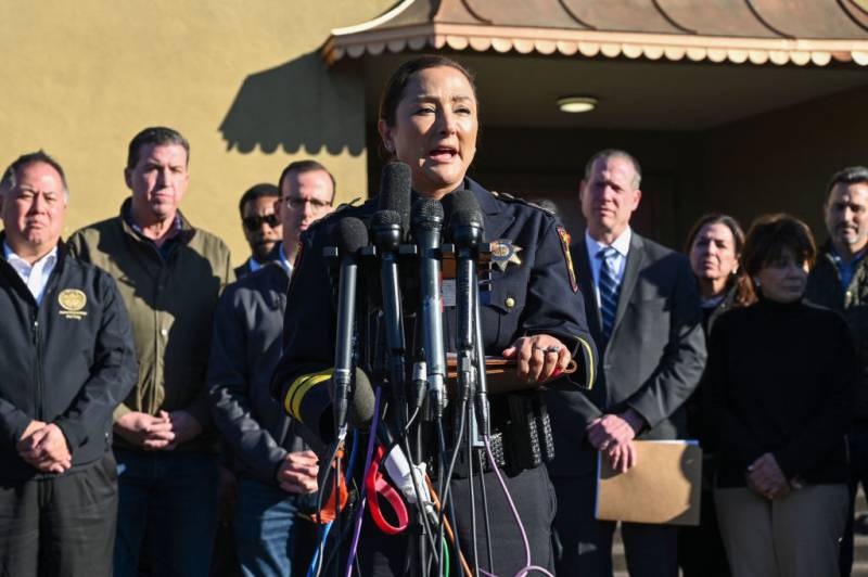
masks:
[[[817,245],[807,225],[786,214],[763,215],[753,221],[741,253],[741,267],[751,279],[754,292],[754,274],[780,260],[787,251],[793,254],[796,262],[814,266]]]

